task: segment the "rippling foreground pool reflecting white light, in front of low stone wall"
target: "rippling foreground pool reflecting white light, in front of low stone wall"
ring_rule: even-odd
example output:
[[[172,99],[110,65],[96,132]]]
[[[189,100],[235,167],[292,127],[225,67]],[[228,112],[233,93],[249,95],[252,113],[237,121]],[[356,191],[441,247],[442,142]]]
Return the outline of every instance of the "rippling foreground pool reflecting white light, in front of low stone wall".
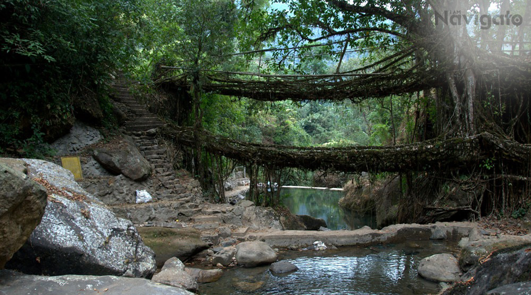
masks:
[[[225,271],[214,283],[200,285],[203,295],[243,295],[242,283],[260,287],[252,294],[435,294],[438,285],[420,278],[417,266],[422,258],[436,253],[456,252],[455,244],[437,241],[400,245],[348,247],[336,251],[288,251],[279,260],[295,264],[299,270],[273,275],[268,266]]]

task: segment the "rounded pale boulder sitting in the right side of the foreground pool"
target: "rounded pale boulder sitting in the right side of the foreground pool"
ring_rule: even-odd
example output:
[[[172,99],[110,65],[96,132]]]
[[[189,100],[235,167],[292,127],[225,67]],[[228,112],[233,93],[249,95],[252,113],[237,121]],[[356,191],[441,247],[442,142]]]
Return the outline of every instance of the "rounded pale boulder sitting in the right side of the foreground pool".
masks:
[[[417,271],[424,279],[434,282],[456,282],[460,275],[457,258],[448,253],[424,258]]]

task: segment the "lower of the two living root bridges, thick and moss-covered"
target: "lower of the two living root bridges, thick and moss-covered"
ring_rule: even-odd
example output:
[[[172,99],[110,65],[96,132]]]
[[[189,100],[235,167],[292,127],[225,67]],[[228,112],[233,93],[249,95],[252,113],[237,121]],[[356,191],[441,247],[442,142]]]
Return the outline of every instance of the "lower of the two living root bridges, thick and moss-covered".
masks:
[[[167,124],[159,132],[177,144],[195,147],[196,140],[190,127]],[[228,139],[207,131],[200,132],[200,141],[206,151],[242,163],[269,168],[296,167],[340,172],[451,171],[478,167],[487,159],[492,165],[515,167],[511,170],[516,172],[527,171],[531,157],[531,146],[501,139],[487,132],[465,138],[432,139],[386,147],[260,145]]]

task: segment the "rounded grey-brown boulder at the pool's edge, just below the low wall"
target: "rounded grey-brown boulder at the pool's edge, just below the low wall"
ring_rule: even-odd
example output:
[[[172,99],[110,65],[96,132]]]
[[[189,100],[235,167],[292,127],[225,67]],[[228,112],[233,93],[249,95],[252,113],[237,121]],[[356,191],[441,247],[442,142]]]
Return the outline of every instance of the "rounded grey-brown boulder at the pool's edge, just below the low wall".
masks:
[[[277,261],[277,254],[264,242],[243,242],[236,246],[236,263],[253,267]]]

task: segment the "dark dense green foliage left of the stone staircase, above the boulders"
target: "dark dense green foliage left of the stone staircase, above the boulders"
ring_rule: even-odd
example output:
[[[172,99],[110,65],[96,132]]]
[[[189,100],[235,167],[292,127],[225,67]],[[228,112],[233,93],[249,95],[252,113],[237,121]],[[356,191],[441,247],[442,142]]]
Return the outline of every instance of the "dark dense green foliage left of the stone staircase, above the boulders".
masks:
[[[108,111],[104,83],[134,59],[140,16],[135,0],[0,3],[2,151],[42,153],[70,128],[76,98]]]

